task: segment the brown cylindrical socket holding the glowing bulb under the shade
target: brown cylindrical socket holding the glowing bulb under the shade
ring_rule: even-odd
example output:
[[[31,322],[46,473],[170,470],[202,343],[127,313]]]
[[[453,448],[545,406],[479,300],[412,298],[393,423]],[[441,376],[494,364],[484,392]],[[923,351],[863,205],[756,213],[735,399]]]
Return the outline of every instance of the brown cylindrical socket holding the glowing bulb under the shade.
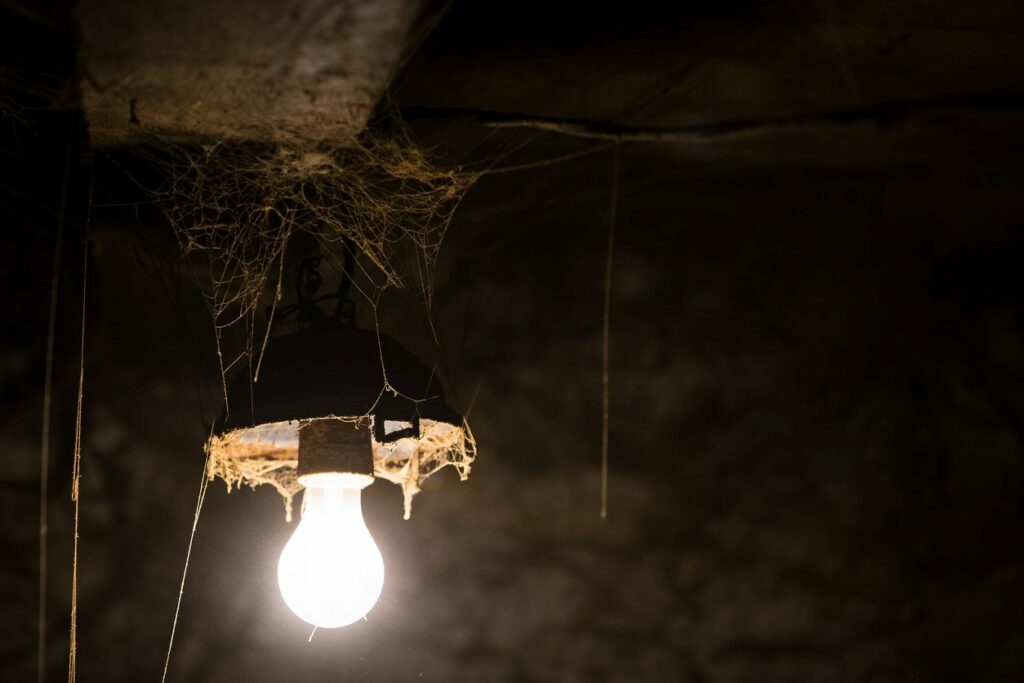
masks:
[[[374,476],[374,450],[370,428],[357,422],[332,418],[309,420],[299,428],[299,481],[327,473]]]

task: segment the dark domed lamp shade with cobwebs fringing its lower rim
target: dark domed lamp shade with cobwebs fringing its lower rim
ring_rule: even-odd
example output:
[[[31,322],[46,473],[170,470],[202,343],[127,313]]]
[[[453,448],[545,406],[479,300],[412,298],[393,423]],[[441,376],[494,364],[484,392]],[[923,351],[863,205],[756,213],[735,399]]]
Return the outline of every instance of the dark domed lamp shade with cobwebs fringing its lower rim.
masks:
[[[324,449],[341,449],[344,439],[330,436],[339,426],[324,424],[335,420],[369,431],[373,476],[401,486],[407,518],[434,472],[452,466],[460,478],[469,476],[476,444],[445,402],[436,373],[387,335],[350,325],[268,342],[258,381],[245,372],[228,385],[206,446],[207,475],[228,489],[270,484],[290,515],[302,489],[300,437],[313,427]]]

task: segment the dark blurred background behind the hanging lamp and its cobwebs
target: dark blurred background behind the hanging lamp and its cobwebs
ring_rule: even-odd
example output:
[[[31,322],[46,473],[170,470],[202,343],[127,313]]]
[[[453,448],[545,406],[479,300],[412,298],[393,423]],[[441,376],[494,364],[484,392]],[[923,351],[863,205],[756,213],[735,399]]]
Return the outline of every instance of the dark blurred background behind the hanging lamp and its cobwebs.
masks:
[[[89,153],[75,8],[0,9],[0,679],[35,671],[67,178],[49,678],[87,257],[79,672],[159,680],[219,410],[209,318],[131,151]],[[1024,679],[1024,7],[456,2],[394,98],[452,163],[588,153],[485,175],[449,232],[436,313],[476,468],[408,522],[367,492],[384,594],[311,642],[276,589],[280,499],[211,484],[169,680]],[[481,112],[625,131],[606,521],[614,151]],[[703,137],[630,139],[680,127]],[[402,305],[385,328],[425,348]]]

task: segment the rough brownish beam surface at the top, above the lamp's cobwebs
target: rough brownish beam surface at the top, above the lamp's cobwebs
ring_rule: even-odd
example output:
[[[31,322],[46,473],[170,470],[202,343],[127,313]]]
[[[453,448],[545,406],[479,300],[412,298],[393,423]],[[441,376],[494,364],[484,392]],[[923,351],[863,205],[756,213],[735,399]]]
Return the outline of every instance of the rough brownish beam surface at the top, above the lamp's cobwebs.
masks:
[[[80,71],[94,144],[358,133],[416,0],[84,0]]]

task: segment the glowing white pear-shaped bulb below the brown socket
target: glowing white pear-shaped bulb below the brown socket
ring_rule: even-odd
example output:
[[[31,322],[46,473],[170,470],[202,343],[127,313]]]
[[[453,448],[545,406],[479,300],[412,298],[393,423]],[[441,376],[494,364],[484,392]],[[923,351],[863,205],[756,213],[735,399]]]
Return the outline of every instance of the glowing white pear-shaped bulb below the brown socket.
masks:
[[[322,629],[362,618],[384,587],[384,559],[359,500],[368,478],[334,472],[302,478],[302,520],[281,553],[278,585],[292,611]]]

